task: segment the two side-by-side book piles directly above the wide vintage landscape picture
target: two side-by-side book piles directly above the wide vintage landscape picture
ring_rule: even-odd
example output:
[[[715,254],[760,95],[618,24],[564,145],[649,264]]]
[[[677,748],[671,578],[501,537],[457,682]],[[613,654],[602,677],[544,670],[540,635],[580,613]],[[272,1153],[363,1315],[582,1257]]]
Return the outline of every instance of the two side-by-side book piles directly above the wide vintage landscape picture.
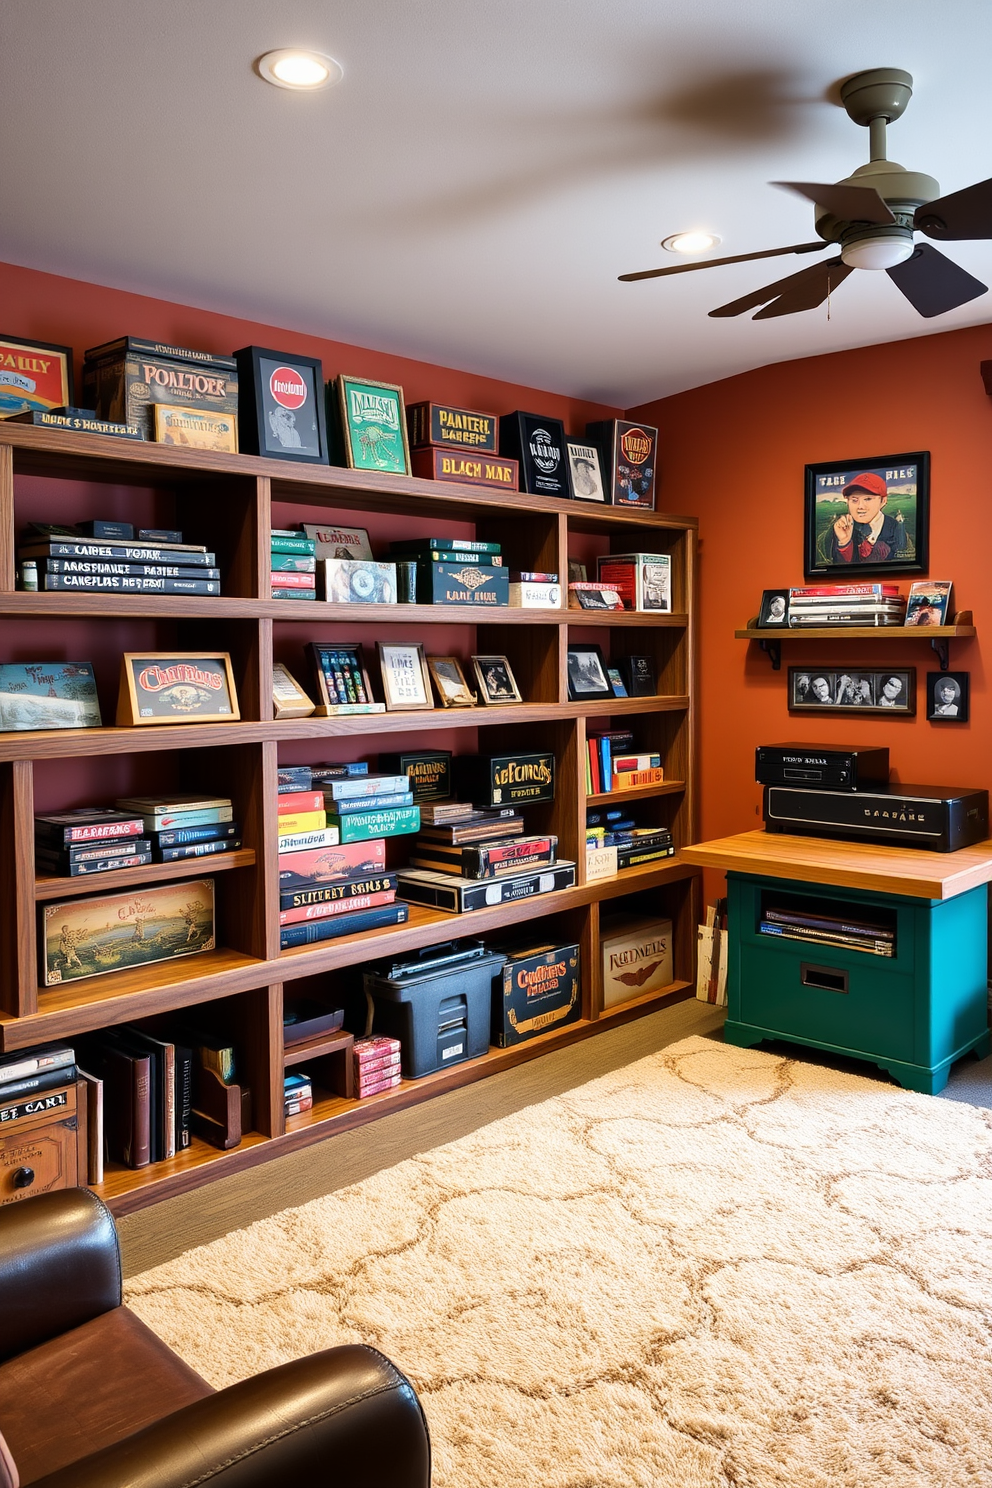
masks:
[[[180,863],[239,847],[229,796],[120,796],[113,806],[34,817],[36,869],[55,878]]]

